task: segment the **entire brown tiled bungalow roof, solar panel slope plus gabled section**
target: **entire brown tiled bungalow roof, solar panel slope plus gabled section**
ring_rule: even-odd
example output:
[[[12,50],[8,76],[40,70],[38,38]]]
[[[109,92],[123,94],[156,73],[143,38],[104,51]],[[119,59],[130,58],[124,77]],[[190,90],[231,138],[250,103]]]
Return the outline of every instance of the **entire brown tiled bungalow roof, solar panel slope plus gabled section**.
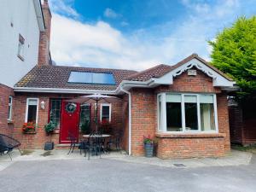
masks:
[[[212,67],[207,61],[203,60],[196,54],[189,55],[183,61],[179,61],[174,66],[160,64],[148,68],[142,72],[121,69],[108,68],[89,68],[89,67],[63,67],[63,66],[41,66],[34,67],[26,74],[17,84],[16,87],[33,87],[33,88],[61,88],[61,89],[81,89],[81,90],[115,90],[122,80],[147,81],[152,78],[160,78],[166,73],[171,72],[184,63],[197,59],[203,62],[215,72],[230,79],[226,74],[220,72],[217,68]],[[94,73],[113,73],[116,84],[77,84],[68,83],[67,80],[72,71],[76,72],[94,72]]]

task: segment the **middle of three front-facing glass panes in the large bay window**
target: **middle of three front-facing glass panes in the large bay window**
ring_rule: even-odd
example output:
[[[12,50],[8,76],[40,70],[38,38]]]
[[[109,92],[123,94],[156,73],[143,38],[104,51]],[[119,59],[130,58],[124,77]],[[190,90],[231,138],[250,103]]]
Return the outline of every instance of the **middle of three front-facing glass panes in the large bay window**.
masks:
[[[198,130],[196,96],[184,96],[185,126],[187,131]]]

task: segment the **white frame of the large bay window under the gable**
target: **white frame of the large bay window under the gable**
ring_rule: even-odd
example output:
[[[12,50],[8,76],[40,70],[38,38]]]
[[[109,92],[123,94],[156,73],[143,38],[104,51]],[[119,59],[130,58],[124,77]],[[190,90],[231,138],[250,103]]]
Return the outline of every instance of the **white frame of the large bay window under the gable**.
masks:
[[[181,105],[182,105],[182,131],[167,131],[166,125],[166,94],[171,95],[181,95]],[[210,95],[213,96],[213,109],[214,109],[214,123],[215,123],[215,130],[214,131],[201,131],[201,110],[200,110],[200,96],[201,95]],[[161,111],[162,115],[159,115],[159,96],[161,96]],[[198,130],[186,130],[186,119],[185,119],[185,102],[184,96],[196,96],[196,104],[197,104],[197,120],[198,120]],[[157,94],[157,117],[158,117],[158,131],[160,132],[167,132],[167,133],[218,133],[218,108],[217,108],[217,98],[216,94],[213,93],[159,93]],[[162,126],[159,125],[159,118],[162,119]]]

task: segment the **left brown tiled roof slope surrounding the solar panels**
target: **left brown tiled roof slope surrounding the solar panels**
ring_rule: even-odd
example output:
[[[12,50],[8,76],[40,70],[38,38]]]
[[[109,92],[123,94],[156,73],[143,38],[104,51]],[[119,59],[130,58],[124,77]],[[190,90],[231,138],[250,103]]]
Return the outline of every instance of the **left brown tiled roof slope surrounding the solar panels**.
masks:
[[[68,83],[67,80],[72,71],[113,73],[116,84],[77,84]],[[119,83],[136,73],[131,70],[89,68],[89,67],[63,67],[63,66],[41,66],[34,67],[25,77],[15,84],[16,87],[36,88],[59,88],[59,89],[81,89],[81,90],[115,90]]]

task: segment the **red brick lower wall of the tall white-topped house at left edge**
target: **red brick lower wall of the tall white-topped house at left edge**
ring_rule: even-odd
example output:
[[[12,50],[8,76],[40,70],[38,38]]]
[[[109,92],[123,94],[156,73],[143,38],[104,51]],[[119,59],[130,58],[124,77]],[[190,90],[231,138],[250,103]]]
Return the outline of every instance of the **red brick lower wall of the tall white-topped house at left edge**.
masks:
[[[14,96],[12,88],[0,84],[0,133],[11,135],[13,124],[8,122],[9,96]],[[14,108],[14,104],[13,104]]]

